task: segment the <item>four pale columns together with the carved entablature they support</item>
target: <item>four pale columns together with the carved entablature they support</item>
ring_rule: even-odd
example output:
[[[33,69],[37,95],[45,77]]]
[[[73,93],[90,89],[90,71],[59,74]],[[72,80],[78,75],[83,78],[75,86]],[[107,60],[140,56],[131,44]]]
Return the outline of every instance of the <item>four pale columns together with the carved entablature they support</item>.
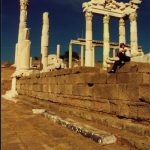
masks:
[[[130,19],[130,41],[132,55],[140,55],[138,51],[138,36],[137,36],[137,9],[141,0],[130,0],[129,3],[116,2],[115,0],[91,0],[83,3],[83,12],[86,18],[86,51],[85,51],[85,66],[94,66],[94,50],[92,45],[92,17],[93,14],[103,16],[103,67],[107,68],[107,59],[110,53],[110,32],[109,21],[111,17],[119,19],[119,43],[126,43],[125,39],[125,19]]]

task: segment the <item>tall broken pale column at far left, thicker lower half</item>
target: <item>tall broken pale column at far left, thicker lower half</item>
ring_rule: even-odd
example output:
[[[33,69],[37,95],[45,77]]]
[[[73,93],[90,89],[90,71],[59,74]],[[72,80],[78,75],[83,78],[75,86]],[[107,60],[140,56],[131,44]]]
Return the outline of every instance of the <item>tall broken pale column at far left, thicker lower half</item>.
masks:
[[[28,0],[20,0],[20,23],[18,43],[15,51],[16,70],[28,70],[30,68],[30,45],[29,29],[27,28]]]

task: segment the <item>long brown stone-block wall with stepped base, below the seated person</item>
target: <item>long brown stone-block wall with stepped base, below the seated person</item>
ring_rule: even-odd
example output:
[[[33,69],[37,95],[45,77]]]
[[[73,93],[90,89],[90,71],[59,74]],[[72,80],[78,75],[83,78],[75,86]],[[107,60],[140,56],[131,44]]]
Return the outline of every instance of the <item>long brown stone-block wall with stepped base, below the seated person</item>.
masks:
[[[127,63],[116,74],[90,67],[33,74],[17,80],[17,91],[24,103],[116,130],[132,148],[150,147],[150,64]]]

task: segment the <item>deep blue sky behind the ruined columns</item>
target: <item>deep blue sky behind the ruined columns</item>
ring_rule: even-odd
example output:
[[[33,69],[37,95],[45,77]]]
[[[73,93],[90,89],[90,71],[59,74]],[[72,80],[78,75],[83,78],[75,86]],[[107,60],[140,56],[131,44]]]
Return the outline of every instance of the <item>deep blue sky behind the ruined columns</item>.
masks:
[[[57,43],[61,44],[61,54],[68,50],[69,41],[85,37],[85,17],[82,3],[88,0],[29,0],[28,22],[31,28],[31,56],[40,56],[42,14],[49,12],[50,47],[49,54],[55,53]],[[128,0],[118,0],[128,2]],[[15,44],[18,39],[19,0],[1,2],[1,59],[14,61]],[[145,53],[150,51],[150,0],[143,0],[138,10],[138,41]],[[129,21],[126,21],[126,38],[129,43]],[[103,39],[102,16],[93,17],[93,37]],[[118,20],[110,20],[110,39],[118,42]],[[74,46],[79,52],[79,47]],[[102,58],[102,49],[96,49],[96,59]]]

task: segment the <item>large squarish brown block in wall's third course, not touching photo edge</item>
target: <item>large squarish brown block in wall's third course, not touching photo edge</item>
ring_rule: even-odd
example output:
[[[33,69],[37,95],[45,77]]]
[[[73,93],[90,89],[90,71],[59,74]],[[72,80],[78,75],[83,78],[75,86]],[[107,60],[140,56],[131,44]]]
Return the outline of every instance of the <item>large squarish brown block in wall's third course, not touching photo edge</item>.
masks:
[[[139,99],[139,85],[137,84],[119,84],[118,95],[120,100],[134,100]]]

